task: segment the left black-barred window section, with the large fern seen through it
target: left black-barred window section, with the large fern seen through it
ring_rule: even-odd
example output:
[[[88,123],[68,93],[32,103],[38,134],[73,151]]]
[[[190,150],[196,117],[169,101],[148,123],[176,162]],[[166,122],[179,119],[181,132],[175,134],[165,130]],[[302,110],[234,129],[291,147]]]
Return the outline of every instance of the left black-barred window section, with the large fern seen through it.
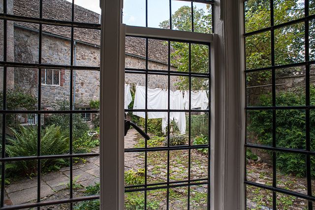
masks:
[[[74,109],[99,97],[99,17],[74,1],[1,1],[0,209],[72,210],[99,199],[75,192],[75,183],[99,181],[98,163],[90,174],[75,166],[78,159],[98,160],[98,151],[83,148],[92,137],[80,115],[91,119],[99,110]],[[9,183],[11,173],[21,175],[16,183]]]

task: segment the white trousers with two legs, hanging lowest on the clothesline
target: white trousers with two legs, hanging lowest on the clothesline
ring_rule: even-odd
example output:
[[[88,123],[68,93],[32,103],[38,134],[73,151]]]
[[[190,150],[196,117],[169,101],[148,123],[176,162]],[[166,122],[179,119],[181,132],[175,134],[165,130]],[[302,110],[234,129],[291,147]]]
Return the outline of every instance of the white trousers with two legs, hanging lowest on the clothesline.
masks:
[[[175,92],[170,91],[170,109],[179,109],[184,110],[184,101],[183,101],[183,92],[177,90]],[[175,121],[181,134],[186,133],[186,116],[185,112],[170,112],[169,113],[170,122]],[[168,114],[165,113],[165,116],[162,119],[162,132],[166,134],[166,127],[168,124]]]

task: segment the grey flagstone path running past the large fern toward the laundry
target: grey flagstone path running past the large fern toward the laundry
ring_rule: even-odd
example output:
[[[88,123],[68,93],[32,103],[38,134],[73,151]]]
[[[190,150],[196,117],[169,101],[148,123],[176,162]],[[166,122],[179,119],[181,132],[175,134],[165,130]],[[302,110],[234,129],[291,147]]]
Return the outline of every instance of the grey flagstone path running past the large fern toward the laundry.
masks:
[[[133,147],[136,143],[133,140],[136,130],[131,129],[125,137],[126,148]],[[92,152],[98,152],[97,149]],[[99,157],[85,158],[85,164],[73,166],[73,179],[76,184],[83,187],[99,182]],[[132,164],[138,164],[136,154],[126,155],[126,169],[133,168]],[[56,192],[66,189],[70,182],[70,167],[62,168],[58,172],[41,175],[40,195],[45,199],[56,194]],[[6,205],[17,205],[28,203],[37,198],[37,176],[19,179],[16,183],[6,185]]]

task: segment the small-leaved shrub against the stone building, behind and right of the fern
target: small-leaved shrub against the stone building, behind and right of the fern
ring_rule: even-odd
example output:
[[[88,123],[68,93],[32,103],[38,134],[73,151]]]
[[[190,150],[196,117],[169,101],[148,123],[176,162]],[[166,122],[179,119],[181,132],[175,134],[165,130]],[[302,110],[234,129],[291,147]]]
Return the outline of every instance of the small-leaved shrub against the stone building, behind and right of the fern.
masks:
[[[51,104],[55,110],[70,110],[70,103],[63,97],[62,100],[56,100],[55,104]],[[69,114],[52,114],[46,118],[43,127],[55,124],[60,126],[65,132],[70,132],[70,115]],[[89,131],[89,125],[85,122],[80,114],[72,115],[72,139],[77,140]]]

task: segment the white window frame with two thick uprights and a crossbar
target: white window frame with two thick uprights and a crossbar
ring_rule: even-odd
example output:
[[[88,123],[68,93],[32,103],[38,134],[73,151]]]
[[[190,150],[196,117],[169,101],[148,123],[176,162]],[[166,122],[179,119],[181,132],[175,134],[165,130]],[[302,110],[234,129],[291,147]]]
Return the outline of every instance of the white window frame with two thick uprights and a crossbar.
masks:
[[[125,35],[204,35],[125,26],[123,0],[100,0],[100,209],[124,209]],[[215,0],[211,44],[211,210],[244,210],[245,84],[242,0]],[[108,91],[111,90],[111,91]],[[110,102],[110,103],[108,103]]]

